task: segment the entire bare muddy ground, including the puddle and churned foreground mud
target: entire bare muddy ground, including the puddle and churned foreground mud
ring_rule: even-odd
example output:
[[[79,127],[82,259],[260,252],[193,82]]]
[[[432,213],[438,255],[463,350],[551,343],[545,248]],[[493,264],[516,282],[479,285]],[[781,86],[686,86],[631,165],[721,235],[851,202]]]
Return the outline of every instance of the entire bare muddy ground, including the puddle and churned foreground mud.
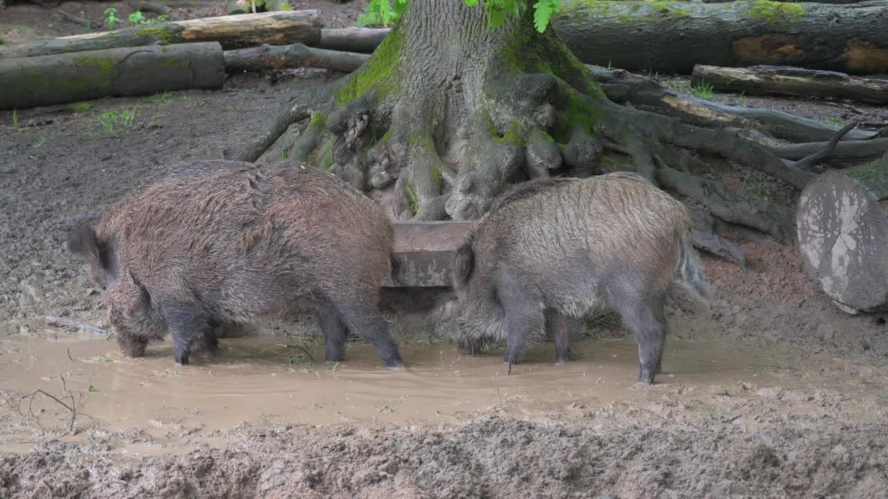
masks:
[[[191,5],[182,17],[222,13],[220,2]],[[108,6],[131,12],[12,4],[0,38],[83,33],[55,12],[100,21]],[[293,6],[340,27],[363,4]],[[566,366],[537,345],[511,376],[501,352],[462,357],[416,321],[398,328],[400,372],[360,343],[337,366],[315,362],[322,345],[287,324],[177,368],[169,344],[132,360],[101,335],[44,323],[105,325],[64,248],[68,218],[172,163],[231,157],[282,102],[339,77],[231,75],[221,91],[0,112],[0,498],[885,496],[885,317],[839,312],[796,248],[749,235],[735,239],[745,270],[703,255],[715,302],[670,308],[651,387],[633,384],[637,351],[607,317],[586,324]],[[686,78],[662,80],[693,91]],[[710,99],[836,126],[888,122],[885,107]],[[749,185],[786,197],[771,188]]]

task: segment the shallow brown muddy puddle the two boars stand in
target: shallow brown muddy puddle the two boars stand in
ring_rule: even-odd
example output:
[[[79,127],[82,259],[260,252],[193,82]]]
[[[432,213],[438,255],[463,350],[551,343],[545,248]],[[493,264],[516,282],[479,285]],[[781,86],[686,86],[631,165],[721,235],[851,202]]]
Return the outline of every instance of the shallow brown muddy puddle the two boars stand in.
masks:
[[[694,398],[710,403],[710,393],[723,390],[718,387],[765,395],[772,390],[780,399],[787,386],[822,384],[800,376],[801,360],[785,354],[707,342],[670,342],[658,385],[637,387],[638,355],[630,339],[575,345],[575,360],[565,366],[554,365],[553,345],[537,345],[511,375],[501,352],[466,357],[453,345],[401,345],[407,368],[391,371],[371,345],[348,345],[347,360],[329,366],[312,361],[323,358],[323,345],[280,341],[224,339],[217,357],[195,356],[185,367],[175,366],[169,344],[132,360],[104,339],[5,342],[0,345],[3,416],[17,421],[0,430],[0,448],[20,447],[15,444],[28,440],[22,437],[34,431],[37,417],[44,427],[64,428],[67,411],[42,395],[31,407],[35,417],[22,420],[18,414],[21,395],[43,390],[60,397],[63,384],[88,415],[78,423],[101,432],[141,429],[167,438],[208,435],[242,422],[452,423],[486,410],[534,417],[622,402]],[[140,446],[142,452],[150,453],[145,447]]]

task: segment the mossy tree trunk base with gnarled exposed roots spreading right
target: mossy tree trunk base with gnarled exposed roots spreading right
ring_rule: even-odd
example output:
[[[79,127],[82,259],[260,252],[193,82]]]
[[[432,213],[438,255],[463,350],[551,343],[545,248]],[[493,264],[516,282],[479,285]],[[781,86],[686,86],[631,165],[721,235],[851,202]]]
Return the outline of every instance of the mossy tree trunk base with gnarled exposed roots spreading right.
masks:
[[[694,175],[710,170],[704,158],[801,190],[834,148],[869,152],[888,140],[587,67],[551,30],[536,33],[530,14],[495,31],[486,22],[483,9],[460,2],[411,4],[367,63],[294,99],[240,159],[313,162],[374,191],[401,220],[479,218],[503,188],[527,178],[636,170],[715,217],[792,243],[794,210]],[[829,143],[783,155],[774,154],[777,139]],[[694,245],[745,265],[742,250],[711,226],[697,227]]]

